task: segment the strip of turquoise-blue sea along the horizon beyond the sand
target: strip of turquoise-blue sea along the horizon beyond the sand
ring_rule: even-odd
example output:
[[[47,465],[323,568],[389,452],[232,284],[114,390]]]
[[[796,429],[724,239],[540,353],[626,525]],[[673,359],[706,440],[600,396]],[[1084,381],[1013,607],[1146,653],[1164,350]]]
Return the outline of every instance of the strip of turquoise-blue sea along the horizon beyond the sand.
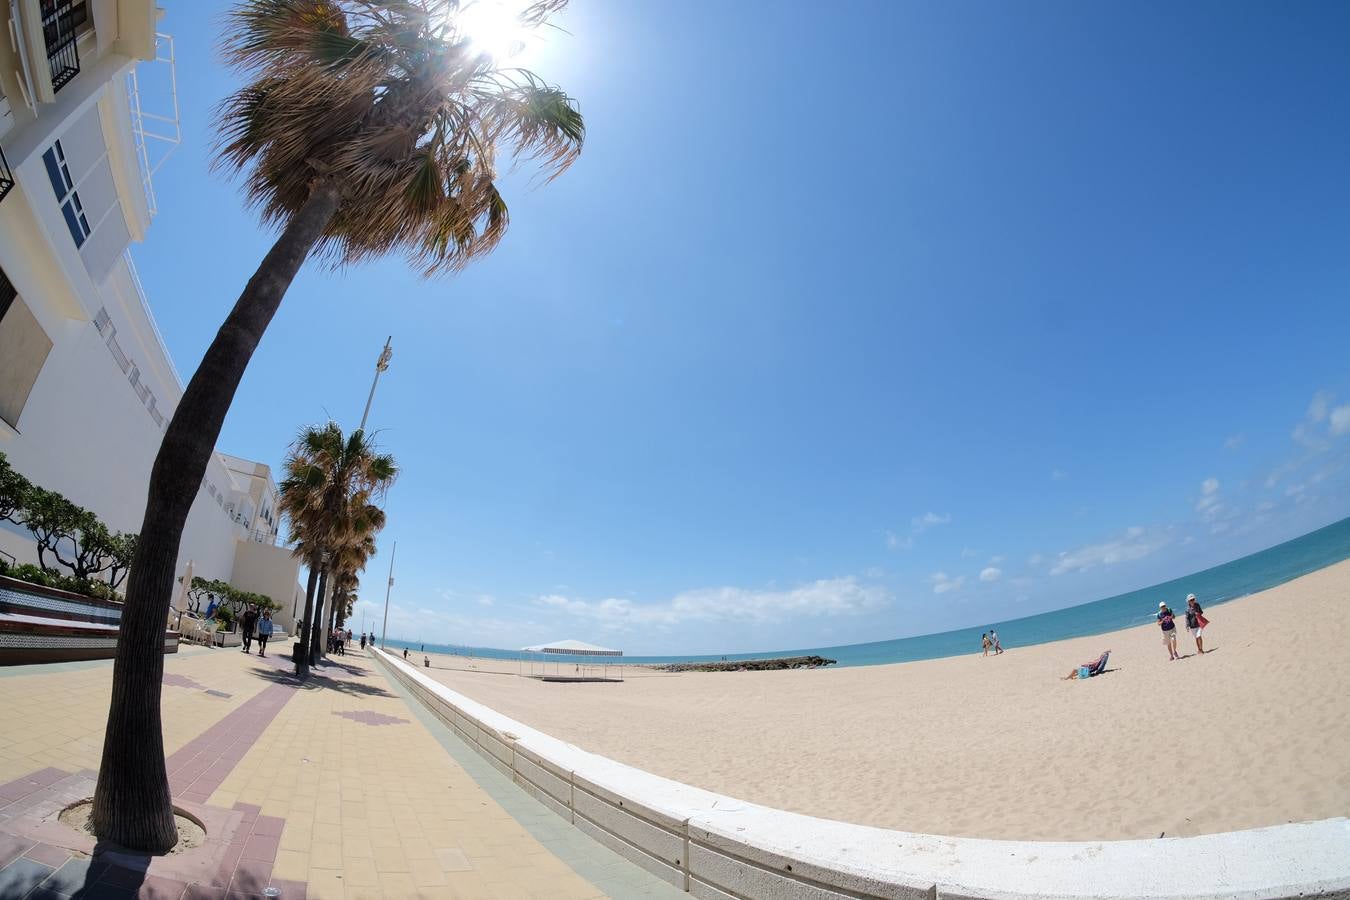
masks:
[[[1227,600],[1235,600],[1247,594],[1282,584],[1319,568],[1350,557],[1350,518],[1334,525],[1296,537],[1269,549],[1243,556],[1242,559],[1215,565],[1195,575],[1153,584],[1138,591],[1108,596],[1102,600],[1071,606],[1053,613],[1040,613],[1006,622],[987,622],[976,627],[902,637],[894,641],[873,641],[871,644],[848,644],[844,646],[809,646],[790,650],[765,650],[760,653],[733,653],[713,656],[625,656],[625,663],[688,663],[710,660],[763,660],[779,656],[818,654],[837,660],[840,665],[880,665],[884,663],[910,663],[914,660],[934,660],[944,656],[975,653],[980,648],[980,634],[991,626],[999,633],[1003,646],[1026,646],[1048,644],[1071,637],[1104,634],[1143,622],[1152,622],[1160,599],[1181,609],[1187,594],[1195,594],[1208,609]],[[389,640],[398,648],[417,649],[417,642]],[[500,650],[485,646],[454,646],[427,644],[433,653],[458,653],[487,658],[517,660],[517,650]],[[562,663],[578,661],[566,656],[549,656]],[[594,660],[591,660],[594,661]]]

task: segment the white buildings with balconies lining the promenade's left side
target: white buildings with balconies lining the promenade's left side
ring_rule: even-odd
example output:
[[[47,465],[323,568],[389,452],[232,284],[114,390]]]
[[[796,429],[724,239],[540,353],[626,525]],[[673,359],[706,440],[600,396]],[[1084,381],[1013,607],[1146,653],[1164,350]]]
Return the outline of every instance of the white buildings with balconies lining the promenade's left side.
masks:
[[[136,90],[173,77],[161,15],[151,0],[0,8],[12,38],[0,39],[0,452],[124,532],[140,528],[182,397],[127,251],[154,213],[146,132],[177,130],[176,109],[153,119]],[[266,466],[216,453],[178,571],[190,560],[198,576],[269,594],[289,630],[298,569],[275,546],[275,493]],[[0,553],[35,560],[8,524]]]

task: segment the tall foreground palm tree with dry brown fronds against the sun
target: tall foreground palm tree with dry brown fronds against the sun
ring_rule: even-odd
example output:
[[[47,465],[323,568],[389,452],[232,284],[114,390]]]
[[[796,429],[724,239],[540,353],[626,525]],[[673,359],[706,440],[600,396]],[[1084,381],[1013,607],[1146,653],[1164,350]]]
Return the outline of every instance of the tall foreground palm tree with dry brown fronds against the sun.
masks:
[[[463,0],[240,0],[225,57],[247,82],[223,104],[220,165],[281,233],[248,279],[165,432],[113,664],[92,824],[123,846],[177,841],[159,712],[178,544],[250,356],[310,252],[342,266],[390,252],[462,269],[506,232],[500,155],[548,177],[580,152],[576,104],[504,67],[467,32]],[[566,0],[520,13],[540,27]]]

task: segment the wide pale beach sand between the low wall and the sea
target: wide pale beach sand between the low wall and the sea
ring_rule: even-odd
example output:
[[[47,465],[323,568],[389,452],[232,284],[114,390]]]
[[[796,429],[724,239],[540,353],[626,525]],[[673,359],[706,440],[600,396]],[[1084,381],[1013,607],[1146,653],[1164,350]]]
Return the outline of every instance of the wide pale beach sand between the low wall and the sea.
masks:
[[[1207,615],[1212,652],[1181,630],[1176,663],[1148,625],[846,669],[551,684],[437,656],[429,673],[657,775],[888,828],[1119,839],[1350,815],[1350,561]],[[1104,649],[1107,673],[1060,680]]]

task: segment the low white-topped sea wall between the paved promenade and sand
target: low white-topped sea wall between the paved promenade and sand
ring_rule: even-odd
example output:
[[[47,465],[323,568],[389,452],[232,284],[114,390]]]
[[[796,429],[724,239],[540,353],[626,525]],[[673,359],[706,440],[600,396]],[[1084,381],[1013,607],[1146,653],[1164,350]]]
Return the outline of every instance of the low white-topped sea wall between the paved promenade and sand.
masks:
[[[1083,842],[948,838],[817,819],[589,753],[377,653],[390,675],[497,770],[594,839],[695,897],[1350,899],[1347,819]]]

